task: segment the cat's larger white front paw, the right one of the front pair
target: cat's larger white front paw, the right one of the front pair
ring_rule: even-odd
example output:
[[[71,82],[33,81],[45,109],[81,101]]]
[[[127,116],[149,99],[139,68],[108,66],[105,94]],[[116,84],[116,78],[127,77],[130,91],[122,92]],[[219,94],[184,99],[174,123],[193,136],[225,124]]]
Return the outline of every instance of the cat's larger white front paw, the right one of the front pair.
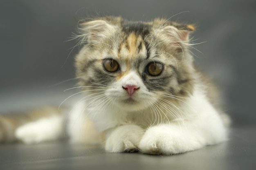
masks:
[[[154,155],[173,155],[202,147],[199,141],[180,130],[166,127],[149,128],[139,143],[141,152]]]

